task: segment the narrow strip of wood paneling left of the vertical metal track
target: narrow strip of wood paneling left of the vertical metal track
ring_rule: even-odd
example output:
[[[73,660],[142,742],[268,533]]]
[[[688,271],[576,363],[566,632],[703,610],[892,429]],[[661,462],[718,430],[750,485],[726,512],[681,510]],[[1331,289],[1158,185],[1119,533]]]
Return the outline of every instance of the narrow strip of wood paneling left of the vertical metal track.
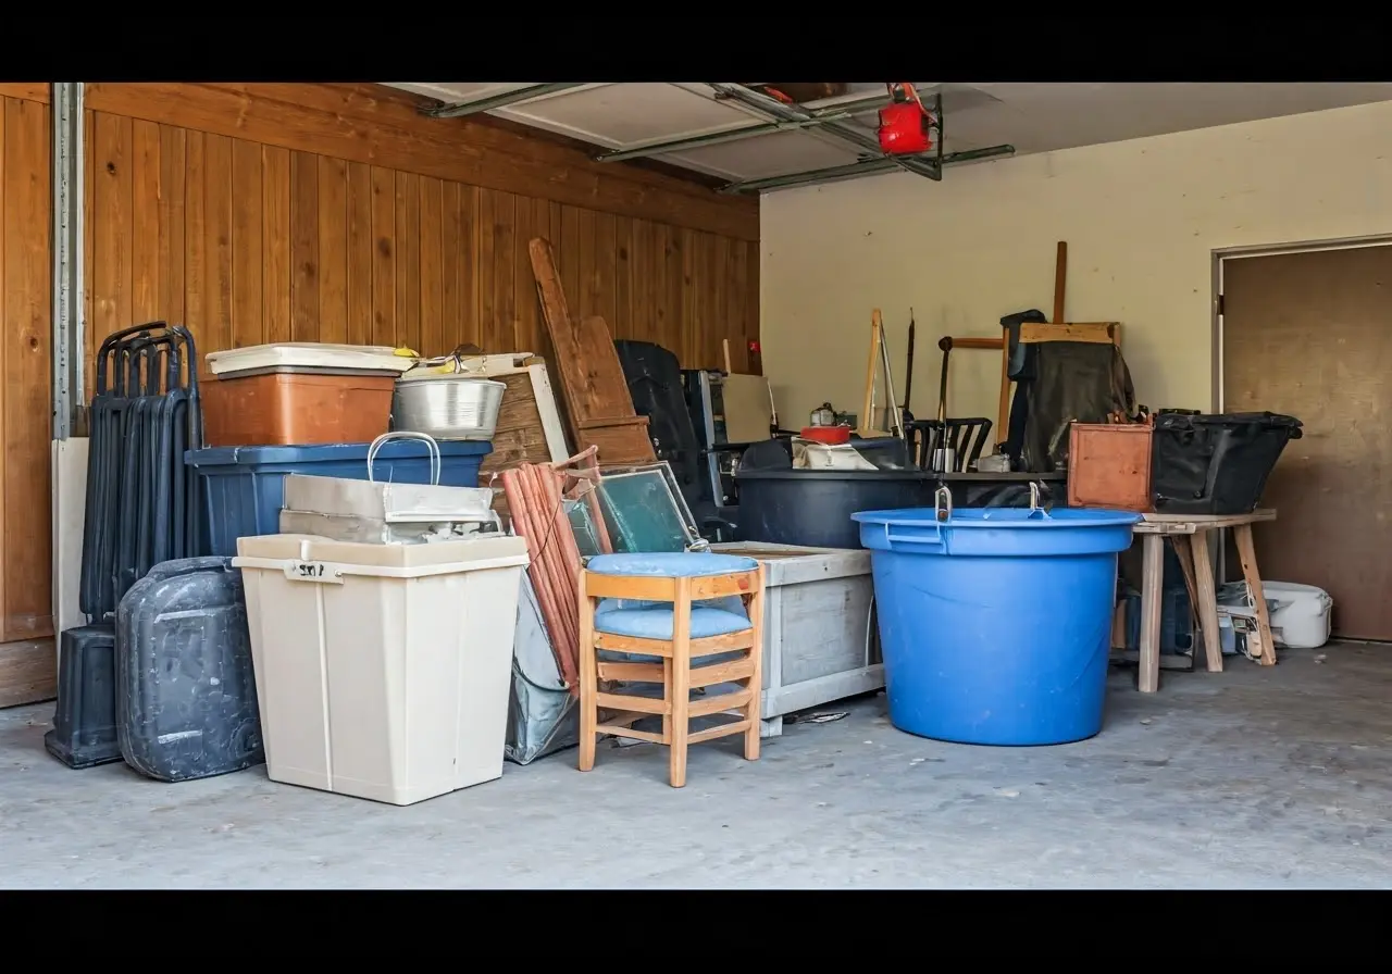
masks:
[[[52,310],[49,239],[49,109],[3,99],[0,234],[3,234],[4,509],[0,641],[53,634],[50,534]],[[52,641],[46,665],[52,672]],[[3,686],[3,683],[0,683]],[[3,692],[0,692],[3,693]]]

